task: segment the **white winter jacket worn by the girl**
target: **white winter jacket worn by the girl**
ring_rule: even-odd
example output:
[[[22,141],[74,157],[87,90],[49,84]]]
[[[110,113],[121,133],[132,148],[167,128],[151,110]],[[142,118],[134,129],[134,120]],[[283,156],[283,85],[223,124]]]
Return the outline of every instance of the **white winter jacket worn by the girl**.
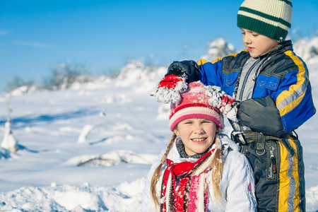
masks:
[[[257,211],[257,200],[254,194],[255,182],[252,168],[249,165],[249,161],[240,153],[240,146],[237,146],[231,139],[225,134],[216,134],[221,141],[223,147],[223,160],[225,164],[223,166],[223,174],[220,182],[221,202],[216,203],[214,197],[213,185],[211,183],[211,172],[208,172],[208,211]],[[175,142],[176,143],[176,142]],[[167,155],[167,158],[180,163],[184,161],[196,161],[194,158],[180,158],[175,143]],[[143,204],[141,211],[151,212],[160,211],[160,208],[155,208],[155,204],[151,199],[150,185],[153,172],[160,165],[160,159],[165,153],[165,150],[159,155],[158,160],[153,163],[151,170],[146,177],[146,185],[143,189]],[[163,172],[167,165],[163,165],[161,175],[157,183],[157,192],[160,196],[161,182],[163,179]]]

